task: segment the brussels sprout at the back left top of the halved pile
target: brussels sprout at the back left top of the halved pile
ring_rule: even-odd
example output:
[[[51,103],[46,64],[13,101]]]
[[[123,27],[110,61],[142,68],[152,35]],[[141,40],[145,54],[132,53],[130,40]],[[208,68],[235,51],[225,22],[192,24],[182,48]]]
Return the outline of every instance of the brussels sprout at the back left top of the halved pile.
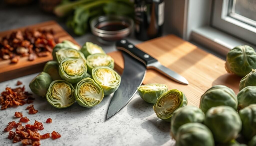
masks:
[[[77,51],[79,51],[81,49],[80,46],[78,46],[76,44],[73,44],[71,41],[64,40],[61,43],[56,44],[55,47],[53,48],[52,57],[53,57],[54,60],[57,60],[56,59],[56,52],[59,49],[62,49],[62,48],[71,48],[71,49],[76,49]]]

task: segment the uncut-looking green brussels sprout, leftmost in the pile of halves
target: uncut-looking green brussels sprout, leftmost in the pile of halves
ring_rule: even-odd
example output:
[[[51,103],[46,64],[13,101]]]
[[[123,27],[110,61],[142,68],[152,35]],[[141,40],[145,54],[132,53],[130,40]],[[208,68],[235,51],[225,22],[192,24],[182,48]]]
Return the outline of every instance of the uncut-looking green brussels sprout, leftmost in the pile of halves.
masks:
[[[45,97],[51,82],[51,76],[46,72],[41,72],[29,83],[29,88],[36,95]]]

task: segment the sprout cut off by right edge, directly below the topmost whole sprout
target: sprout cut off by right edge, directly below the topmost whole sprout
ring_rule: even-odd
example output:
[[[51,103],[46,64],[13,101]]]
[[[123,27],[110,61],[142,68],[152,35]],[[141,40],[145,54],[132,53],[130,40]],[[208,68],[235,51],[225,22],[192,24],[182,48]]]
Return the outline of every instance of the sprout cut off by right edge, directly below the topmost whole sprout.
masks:
[[[254,69],[252,69],[249,74],[242,78],[239,84],[239,91],[247,86],[256,86],[256,70]]]

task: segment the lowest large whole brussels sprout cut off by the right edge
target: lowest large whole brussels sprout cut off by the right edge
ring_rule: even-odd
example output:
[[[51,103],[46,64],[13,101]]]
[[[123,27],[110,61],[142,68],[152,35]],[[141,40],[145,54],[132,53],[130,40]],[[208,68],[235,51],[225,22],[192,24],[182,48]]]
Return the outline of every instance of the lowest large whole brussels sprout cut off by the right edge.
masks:
[[[239,111],[242,120],[242,134],[245,138],[251,139],[256,135],[256,104],[251,104]]]

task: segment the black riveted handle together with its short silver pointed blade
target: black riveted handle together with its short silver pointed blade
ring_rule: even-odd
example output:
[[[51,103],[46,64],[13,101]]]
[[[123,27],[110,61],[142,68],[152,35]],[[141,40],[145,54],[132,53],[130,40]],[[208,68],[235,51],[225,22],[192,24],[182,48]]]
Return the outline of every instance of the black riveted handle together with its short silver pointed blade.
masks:
[[[123,40],[116,42],[116,48],[127,52],[132,57],[141,61],[143,64],[145,64],[147,69],[155,69],[158,72],[164,74],[165,76],[169,77],[170,79],[172,79],[178,83],[185,84],[185,85],[188,84],[188,81],[186,80],[185,77],[170,70],[169,68],[166,68],[160,62],[158,62],[155,58],[151,57],[150,55],[143,52],[142,50],[136,48],[133,44],[131,44],[127,40],[123,39]]]

